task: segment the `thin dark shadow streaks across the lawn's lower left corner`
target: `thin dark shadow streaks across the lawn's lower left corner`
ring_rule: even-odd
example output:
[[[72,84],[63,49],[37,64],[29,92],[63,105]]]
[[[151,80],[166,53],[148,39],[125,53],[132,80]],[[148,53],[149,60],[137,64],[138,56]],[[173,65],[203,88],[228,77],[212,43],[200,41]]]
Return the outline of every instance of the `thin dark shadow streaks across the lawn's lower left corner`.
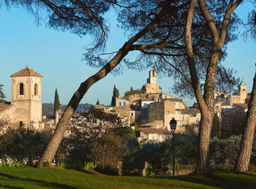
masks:
[[[9,175],[9,174],[0,173],[0,176],[1,177],[7,177],[7,178],[13,179],[13,180],[20,180],[20,181],[24,181],[24,182],[28,182],[28,181],[29,182],[34,182],[34,183],[37,183],[38,185],[42,185],[43,187],[71,188],[71,189],[73,188],[73,189],[76,189],[75,187],[72,187],[72,186],[69,186],[69,185],[59,184],[59,183],[55,183],[55,182],[46,182],[46,181],[43,181],[43,180],[32,180],[32,179],[14,177],[14,176]],[[5,187],[5,188],[17,188],[17,187],[4,185],[4,183],[3,183],[3,187]]]

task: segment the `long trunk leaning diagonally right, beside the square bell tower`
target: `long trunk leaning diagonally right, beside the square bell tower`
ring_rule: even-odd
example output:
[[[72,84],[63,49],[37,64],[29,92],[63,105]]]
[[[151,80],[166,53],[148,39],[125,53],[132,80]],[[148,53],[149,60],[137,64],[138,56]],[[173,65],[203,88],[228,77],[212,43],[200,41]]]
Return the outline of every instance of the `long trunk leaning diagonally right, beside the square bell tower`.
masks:
[[[81,99],[83,99],[83,96],[86,94],[87,90],[89,90],[91,85],[93,85],[95,82],[105,77],[118,65],[118,63],[121,62],[121,60],[129,53],[130,47],[134,42],[138,41],[140,37],[142,37],[148,31],[154,28],[154,25],[157,24],[162,16],[165,14],[164,9],[159,12],[159,15],[157,15],[154,20],[152,20],[151,23],[148,24],[148,26],[143,28],[143,30],[139,31],[138,34],[135,34],[135,36],[132,36],[132,38],[129,39],[129,41],[126,42],[120,50],[118,50],[118,53],[112,58],[112,60],[104,67],[102,67],[99,72],[89,77],[85,82],[81,83],[80,87],[74,93],[72,99],[69,101],[69,104],[64,110],[64,113],[62,114],[61,119],[59,120],[59,123],[57,124],[56,129],[53,133],[53,137],[52,139],[50,139],[50,142],[46,147],[46,150],[42,155],[42,158],[40,159],[37,168],[42,168],[44,162],[48,161],[49,163],[52,163],[54,155],[56,154],[66,131],[67,124],[69,123],[70,118],[74,114],[75,109],[78,107],[78,104],[80,103]]]

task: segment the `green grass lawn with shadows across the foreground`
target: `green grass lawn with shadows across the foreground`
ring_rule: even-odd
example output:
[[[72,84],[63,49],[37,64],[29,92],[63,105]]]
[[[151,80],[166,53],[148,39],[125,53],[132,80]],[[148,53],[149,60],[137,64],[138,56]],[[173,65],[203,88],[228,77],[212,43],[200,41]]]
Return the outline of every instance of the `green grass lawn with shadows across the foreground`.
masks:
[[[0,168],[0,188],[256,188],[256,174],[118,177],[67,169]]]

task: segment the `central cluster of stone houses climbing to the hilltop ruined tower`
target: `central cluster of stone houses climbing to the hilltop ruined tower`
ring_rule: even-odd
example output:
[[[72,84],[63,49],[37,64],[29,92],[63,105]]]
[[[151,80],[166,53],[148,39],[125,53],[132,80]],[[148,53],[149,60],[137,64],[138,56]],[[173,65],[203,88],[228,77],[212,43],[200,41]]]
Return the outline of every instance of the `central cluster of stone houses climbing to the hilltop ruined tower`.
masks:
[[[128,125],[140,127],[140,140],[162,142],[170,134],[170,120],[174,117],[177,121],[176,132],[185,134],[186,126],[199,126],[200,111],[198,109],[187,109],[186,102],[182,99],[162,93],[157,84],[157,72],[152,69],[146,84],[140,93],[120,96],[116,98],[115,107],[104,107],[96,105],[106,112],[114,112],[127,120]],[[146,130],[145,130],[146,129]],[[166,136],[159,135],[165,131]],[[154,133],[155,132],[155,133]],[[153,138],[152,138],[152,137]],[[154,139],[155,137],[155,139]],[[160,138],[159,138],[160,137]]]

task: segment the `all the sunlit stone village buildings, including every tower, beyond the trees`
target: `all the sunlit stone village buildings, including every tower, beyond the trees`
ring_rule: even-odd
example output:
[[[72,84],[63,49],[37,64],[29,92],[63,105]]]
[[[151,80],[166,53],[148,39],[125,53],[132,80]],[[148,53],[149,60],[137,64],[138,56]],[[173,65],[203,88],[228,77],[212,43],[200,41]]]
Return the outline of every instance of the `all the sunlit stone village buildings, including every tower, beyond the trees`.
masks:
[[[19,126],[27,126],[35,130],[53,132],[59,121],[61,112],[56,111],[55,119],[42,116],[42,75],[32,69],[21,69],[10,76],[12,78],[12,101],[0,103],[0,119],[10,120]],[[227,111],[239,109],[247,111],[250,94],[244,81],[238,85],[238,91],[228,95],[222,91],[214,93],[214,109],[219,117]],[[137,127],[139,141],[162,142],[171,137],[170,120],[177,121],[176,132],[186,134],[188,127],[197,131],[200,125],[200,110],[197,103],[186,107],[182,99],[162,93],[157,84],[157,72],[152,69],[146,84],[141,90],[128,91],[124,97],[113,98],[112,106],[95,105],[118,115],[128,126]],[[97,121],[95,122],[97,124]],[[67,134],[69,131],[67,131]]]

